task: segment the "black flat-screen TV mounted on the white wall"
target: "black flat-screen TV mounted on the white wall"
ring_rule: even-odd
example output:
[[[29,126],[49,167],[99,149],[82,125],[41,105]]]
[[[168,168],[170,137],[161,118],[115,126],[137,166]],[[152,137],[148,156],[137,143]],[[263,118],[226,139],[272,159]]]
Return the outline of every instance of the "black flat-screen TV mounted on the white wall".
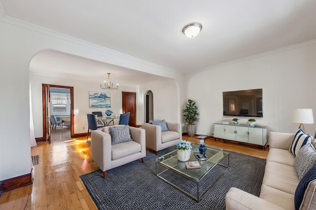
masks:
[[[223,115],[262,118],[262,89],[223,92]]]

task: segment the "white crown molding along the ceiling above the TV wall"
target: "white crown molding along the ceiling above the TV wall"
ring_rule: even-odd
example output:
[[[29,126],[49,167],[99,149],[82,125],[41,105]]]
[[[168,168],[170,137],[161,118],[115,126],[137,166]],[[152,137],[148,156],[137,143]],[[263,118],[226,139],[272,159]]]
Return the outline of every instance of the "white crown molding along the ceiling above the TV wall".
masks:
[[[277,48],[277,49],[273,49],[273,50],[270,50],[270,51],[258,53],[258,54],[255,54],[255,55],[250,55],[250,56],[247,56],[247,57],[238,58],[236,60],[231,60],[231,61],[227,61],[227,62],[224,62],[224,63],[216,64],[216,65],[213,65],[213,66],[208,66],[208,67],[205,67],[205,68],[197,69],[196,71],[194,71],[192,73],[186,74],[186,76],[187,75],[192,75],[192,74],[197,74],[197,73],[203,72],[203,71],[216,69],[216,68],[223,67],[223,66],[232,65],[232,64],[235,64],[235,63],[244,62],[244,61],[247,61],[247,60],[252,60],[252,59],[255,59],[255,58],[260,58],[260,57],[264,57],[264,56],[268,56],[268,55],[273,55],[273,54],[276,54],[276,53],[280,53],[280,52],[284,52],[284,51],[288,51],[288,50],[292,50],[292,49],[296,49],[296,48],[300,48],[300,47],[304,47],[304,46],[313,45],[313,44],[316,44],[316,39],[310,40],[310,41],[306,41],[306,42],[300,42],[300,43],[297,43],[297,44],[288,45],[288,46],[285,46],[285,47],[280,47],[280,48]]]

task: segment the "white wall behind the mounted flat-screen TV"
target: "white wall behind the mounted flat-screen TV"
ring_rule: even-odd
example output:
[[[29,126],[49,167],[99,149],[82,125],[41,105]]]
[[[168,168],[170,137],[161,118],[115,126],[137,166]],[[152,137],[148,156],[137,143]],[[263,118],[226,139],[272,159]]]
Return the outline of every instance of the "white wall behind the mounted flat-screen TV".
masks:
[[[262,88],[263,118],[256,118],[256,124],[269,131],[295,132],[299,125],[291,116],[296,108],[313,108],[315,116],[316,43],[302,45],[186,76],[188,98],[197,102],[200,113],[197,133],[212,134],[214,123],[233,119],[223,117],[223,91]],[[237,118],[239,123],[248,119]],[[314,134],[316,126],[306,124],[305,129]]]

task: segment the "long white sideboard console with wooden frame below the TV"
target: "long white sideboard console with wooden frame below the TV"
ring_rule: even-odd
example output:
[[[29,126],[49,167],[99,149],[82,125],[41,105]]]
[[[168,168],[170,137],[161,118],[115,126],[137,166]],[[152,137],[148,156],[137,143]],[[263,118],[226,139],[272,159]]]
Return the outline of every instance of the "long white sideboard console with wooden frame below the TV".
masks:
[[[226,139],[262,146],[267,144],[267,127],[252,127],[244,124],[214,123],[214,138]]]

